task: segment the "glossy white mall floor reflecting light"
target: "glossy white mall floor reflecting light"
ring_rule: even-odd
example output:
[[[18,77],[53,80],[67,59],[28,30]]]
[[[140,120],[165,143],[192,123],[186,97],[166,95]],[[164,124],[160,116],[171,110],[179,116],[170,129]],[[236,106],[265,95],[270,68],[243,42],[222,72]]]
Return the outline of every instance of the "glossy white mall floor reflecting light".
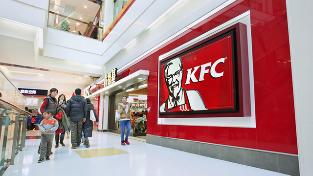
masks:
[[[130,145],[121,146],[119,135],[107,132],[93,132],[89,141],[90,148],[81,145],[75,150],[70,148],[68,138],[65,147],[54,148],[54,142],[50,160],[37,163],[40,139],[28,139],[15,164],[3,176],[286,176],[147,144],[136,138],[129,139]],[[80,153],[89,153],[91,157]]]

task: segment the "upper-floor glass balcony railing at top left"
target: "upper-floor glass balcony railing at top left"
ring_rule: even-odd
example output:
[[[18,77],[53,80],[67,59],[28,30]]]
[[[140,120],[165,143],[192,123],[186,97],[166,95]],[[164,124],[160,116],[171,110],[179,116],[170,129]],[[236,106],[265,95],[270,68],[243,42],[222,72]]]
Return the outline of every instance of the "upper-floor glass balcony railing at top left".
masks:
[[[50,3],[48,27],[102,40],[104,21]]]

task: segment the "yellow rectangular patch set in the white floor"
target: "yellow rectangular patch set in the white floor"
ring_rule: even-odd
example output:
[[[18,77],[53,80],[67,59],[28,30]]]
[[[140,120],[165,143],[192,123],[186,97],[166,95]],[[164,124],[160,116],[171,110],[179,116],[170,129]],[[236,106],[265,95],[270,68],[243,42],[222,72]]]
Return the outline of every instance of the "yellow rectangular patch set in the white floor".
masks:
[[[129,154],[118,148],[105,148],[105,149],[92,149],[92,150],[82,150],[75,151],[81,158],[99,157],[99,156],[110,156],[117,154]]]

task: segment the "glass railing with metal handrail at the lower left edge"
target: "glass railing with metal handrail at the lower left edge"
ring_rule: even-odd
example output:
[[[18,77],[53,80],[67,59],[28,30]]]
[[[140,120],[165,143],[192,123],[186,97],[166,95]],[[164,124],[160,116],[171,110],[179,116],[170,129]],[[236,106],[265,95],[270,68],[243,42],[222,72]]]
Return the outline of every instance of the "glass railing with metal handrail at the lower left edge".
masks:
[[[27,117],[23,110],[26,98],[0,70],[0,174],[25,146]]]

